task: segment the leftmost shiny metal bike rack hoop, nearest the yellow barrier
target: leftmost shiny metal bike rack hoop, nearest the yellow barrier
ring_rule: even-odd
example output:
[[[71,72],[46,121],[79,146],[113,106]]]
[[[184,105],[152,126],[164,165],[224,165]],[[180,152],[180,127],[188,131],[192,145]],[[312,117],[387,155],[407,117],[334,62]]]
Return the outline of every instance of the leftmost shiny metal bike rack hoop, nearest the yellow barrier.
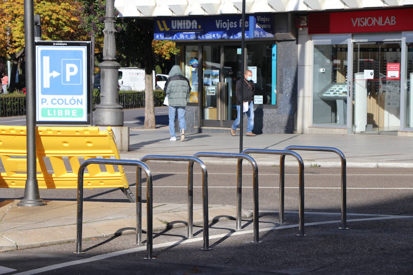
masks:
[[[83,254],[82,252],[82,223],[83,223],[83,173],[85,168],[90,164],[103,164],[103,165],[132,165],[137,166],[140,171],[142,168],[145,170],[147,178],[147,189],[146,189],[146,223],[147,223],[147,242],[146,242],[146,258],[148,260],[156,259],[153,257],[152,253],[152,173],[149,167],[141,161],[138,160],[114,160],[114,159],[101,159],[101,158],[90,158],[82,162],[78,171],[78,192],[77,192],[77,222],[76,222],[76,252],[74,254]],[[136,175],[138,178],[138,174]],[[138,184],[137,188],[141,187]],[[140,199],[140,193],[136,194],[136,197]],[[138,209],[138,200],[136,201],[136,209]],[[136,216],[138,222],[138,215]],[[136,228],[138,233],[138,228]]]

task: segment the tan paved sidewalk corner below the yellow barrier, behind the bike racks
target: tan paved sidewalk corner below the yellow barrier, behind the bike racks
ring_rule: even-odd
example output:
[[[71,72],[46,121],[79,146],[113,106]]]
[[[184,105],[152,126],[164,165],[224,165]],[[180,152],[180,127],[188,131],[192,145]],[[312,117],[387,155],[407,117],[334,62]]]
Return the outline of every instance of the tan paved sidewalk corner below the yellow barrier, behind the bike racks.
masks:
[[[46,201],[45,206],[19,207],[19,200],[0,202],[0,251],[12,251],[76,241],[76,201]],[[209,222],[235,219],[236,208],[209,205]],[[242,211],[242,217],[252,216]],[[186,204],[153,204],[153,230],[186,226]],[[193,223],[202,224],[202,205],[194,204]],[[135,233],[136,204],[83,202],[83,240]],[[142,204],[146,231],[146,203]],[[75,251],[75,246],[73,246]]]

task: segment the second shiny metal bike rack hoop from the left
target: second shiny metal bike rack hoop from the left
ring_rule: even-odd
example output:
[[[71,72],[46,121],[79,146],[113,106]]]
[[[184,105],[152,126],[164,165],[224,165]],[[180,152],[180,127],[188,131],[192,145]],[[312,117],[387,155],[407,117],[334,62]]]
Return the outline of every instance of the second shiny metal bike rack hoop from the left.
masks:
[[[192,238],[193,227],[193,166],[194,162],[198,163],[202,169],[202,212],[203,212],[203,240],[204,244],[201,250],[211,250],[209,248],[209,228],[208,228],[208,172],[204,162],[197,157],[192,156],[170,156],[170,155],[146,155],[140,159],[141,162],[148,160],[167,160],[167,161],[188,161],[188,238]],[[138,168],[138,187],[137,188],[137,208],[136,208],[136,244],[141,243],[142,234],[142,199],[141,189],[141,169]]]

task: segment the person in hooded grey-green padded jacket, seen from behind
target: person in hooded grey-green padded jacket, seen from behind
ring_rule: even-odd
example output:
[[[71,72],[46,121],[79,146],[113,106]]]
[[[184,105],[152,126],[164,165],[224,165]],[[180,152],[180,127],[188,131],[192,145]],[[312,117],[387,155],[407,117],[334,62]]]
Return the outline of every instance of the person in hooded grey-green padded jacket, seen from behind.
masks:
[[[170,141],[176,141],[175,134],[175,113],[178,111],[178,120],[180,128],[180,141],[185,140],[185,107],[189,100],[191,87],[188,78],[182,75],[182,71],[178,65],[174,65],[169,72],[168,79],[165,82],[164,91],[169,95],[169,133],[171,134]]]

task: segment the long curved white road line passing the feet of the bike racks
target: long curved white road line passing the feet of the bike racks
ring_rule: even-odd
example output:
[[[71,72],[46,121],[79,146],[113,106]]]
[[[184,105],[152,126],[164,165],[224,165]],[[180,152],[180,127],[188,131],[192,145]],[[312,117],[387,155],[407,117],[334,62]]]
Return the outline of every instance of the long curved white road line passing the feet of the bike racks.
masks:
[[[377,215],[371,215],[371,216],[377,216]],[[375,220],[385,220],[385,219],[402,219],[402,218],[412,218],[412,217],[413,216],[380,216],[380,217],[376,217],[376,218],[351,219],[351,220],[347,220],[347,222],[351,222],[351,221],[375,221]],[[313,223],[304,223],[304,226],[314,226],[314,225],[331,224],[331,223],[341,223],[341,221],[319,221],[319,222],[313,222]],[[261,228],[261,229],[259,229],[259,232],[267,232],[267,231],[271,231],[271,230],[279,230],[279,229],[294,228],[294,227],[299,227],[299,225],[298,224],[291,224],[291,225],[287,225],[287,226],[274,226],[274,227],[268,227],[268,228]],[[230,236],[236,236],[236,235],[251,234],[251,233],[254,233],[254,230],[245,230],[245,231],[224,233],[224,234],[209,236],[209,240],[214,240],[214,239],[219,239],[219,238],[224,238],[224,237],[230,237]],[[161,243],[161,244],[154,244],[153,248],[156,249],[156,248],[162,248],[162,247],[173,247],[173,246],[176,246],[178,244],[188,244],[188,243],[191,243],[191,242],[200,242],[200,241],[203,241],[203,240],[204,240],[204,237],[197,237],[197,238],[193,238],[193,239],[184,239],[184,240],[174,241],[174,242],[165,242],[165,243]],[[136,247],[136,248],[131,248],[131,249],[125,249],[125,250],[121,250],[121,251],[115,251],[115,252],[111,252],[111,253],[107,253],[107,254],[93,256],[93,257],[86,258],[86,259],[79,259],[79,260],[75,260],[75,261],[69,261],[69,262],[66,262],[66,263],[58,263],[58,264],[55,264],[55,265],[45,266],[43,268],[36,268],[36,269],[27,270],[27,271],[24,271],[24,272],[14,273],[14,274],[15,275],[17,275],[17,274],[19,274],[19,275],[37,274],[37,273],[41,273],[41,272],[55,270],[55,269],[58,269],[58,268],[63,268],[63,267],[66,267],[66,266],[74,266],[74,265],[81,264],[81,263],[90,263],[90,262],[93,262],[93,261],[100,261],[100,260],[103,260],[103,259],[108,259],[108,258],[112,258],[112,257],[116,257],[116,256],[121,256],[121,255],[130,254],[130,253],[134,253],[134,252],[145,251],[145,250],[146,250],[146,246]]]

